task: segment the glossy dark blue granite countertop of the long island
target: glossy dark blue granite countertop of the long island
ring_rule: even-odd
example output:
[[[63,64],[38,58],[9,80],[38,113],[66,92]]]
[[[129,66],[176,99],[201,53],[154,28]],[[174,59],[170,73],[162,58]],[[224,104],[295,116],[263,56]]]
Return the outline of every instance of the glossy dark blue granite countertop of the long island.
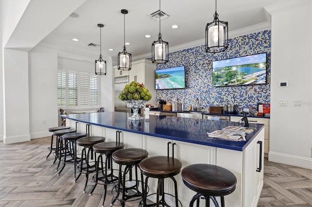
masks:
[[[238,126],[238,122],[212,121],[154,115],[150,115],[149,121],[130,121],[128,120],[129,115],[131,116],[132,114],[124,112],[102,112],[60,116],[70,120],[80,121],[116,130],[236,151],[243,151],[259,133],[260,129],[264,127],[263,124],[250,123],[250,127],[255,127],[257,130],[249,135],[246,135],[246,141],[231,141],[209,138],[207,137],[207,132],[220,130],[221,128],[230,125]]]

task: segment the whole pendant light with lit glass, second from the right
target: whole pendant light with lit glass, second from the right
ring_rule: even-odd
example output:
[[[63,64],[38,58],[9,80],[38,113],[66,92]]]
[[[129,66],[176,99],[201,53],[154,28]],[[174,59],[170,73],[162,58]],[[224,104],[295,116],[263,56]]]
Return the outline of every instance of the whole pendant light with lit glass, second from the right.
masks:
[[[168,42],[163,41],[161,38],[160,17],[161,17],[161,10],[160,10],[160,0],[159,0],[159,34],[158,34],[158,40],[154,41],[152,44],[152,62],[158,63],[158,64],[169,62],[169,46],[168,46]]]

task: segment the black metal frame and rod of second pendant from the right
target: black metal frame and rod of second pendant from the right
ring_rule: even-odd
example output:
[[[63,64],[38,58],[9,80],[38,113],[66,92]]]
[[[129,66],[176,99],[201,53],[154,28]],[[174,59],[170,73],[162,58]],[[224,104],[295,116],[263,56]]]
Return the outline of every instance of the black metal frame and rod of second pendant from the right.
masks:
[[[160,17],[161,17],[161,10],[160,10],[160,0],[159,0],[159,34],[158,34],[158,40],[154,41],[152,43],[152,62],[157,64],[164,64],[169,62],[169,43],[166,41],[163,41],[161,38],[160,33]],[[155,45],[161,45],[161,57],[156,57],[155,55]],[[164,52],[165,51],[165,54]]]

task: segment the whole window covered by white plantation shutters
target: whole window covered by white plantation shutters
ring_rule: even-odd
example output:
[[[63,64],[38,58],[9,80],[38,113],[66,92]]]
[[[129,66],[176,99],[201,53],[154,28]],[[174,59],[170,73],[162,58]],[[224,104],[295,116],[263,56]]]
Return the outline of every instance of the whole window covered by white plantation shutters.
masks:
[[[91,108],[99,105],[98,76],[85,72],[58,71],[58,106]]]

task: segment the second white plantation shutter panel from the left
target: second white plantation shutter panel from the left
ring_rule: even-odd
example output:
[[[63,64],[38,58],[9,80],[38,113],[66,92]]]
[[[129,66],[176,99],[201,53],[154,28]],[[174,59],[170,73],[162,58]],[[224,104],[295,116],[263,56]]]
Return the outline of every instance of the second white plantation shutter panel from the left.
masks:
[[[78,74],[68,72],[68,105],[78,106]]]

